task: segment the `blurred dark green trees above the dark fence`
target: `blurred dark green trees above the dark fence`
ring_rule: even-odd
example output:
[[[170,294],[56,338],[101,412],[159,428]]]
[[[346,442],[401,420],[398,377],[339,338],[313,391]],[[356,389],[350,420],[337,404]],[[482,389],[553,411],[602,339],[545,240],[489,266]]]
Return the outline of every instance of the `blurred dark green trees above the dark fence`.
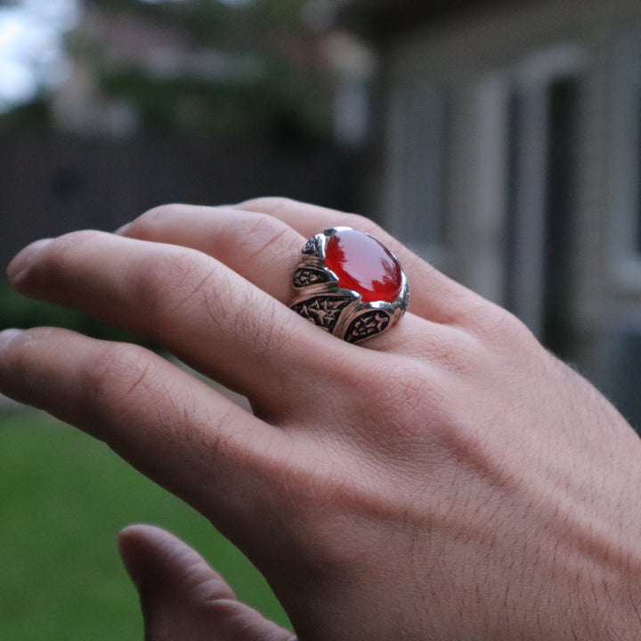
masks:
[[[331,134],[331,93],[318,39],[300,20],[303,5],[85,0],[85,19],[66,44],[93,82],[85,93],[126,106],[139,131],[319,140]],[[48,118],[47,103],[12,118]]]

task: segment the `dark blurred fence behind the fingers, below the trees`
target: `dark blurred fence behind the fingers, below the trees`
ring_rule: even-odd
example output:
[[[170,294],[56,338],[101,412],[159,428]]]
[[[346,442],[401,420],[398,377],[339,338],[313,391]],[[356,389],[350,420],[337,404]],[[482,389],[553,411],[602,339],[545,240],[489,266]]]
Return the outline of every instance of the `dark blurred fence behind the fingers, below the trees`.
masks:
[[[355,163],[330,145],[173,138],[0,137],[0,263],[33,239],[114,230],[166,202],[222,204],[283,195],[353,208]]]

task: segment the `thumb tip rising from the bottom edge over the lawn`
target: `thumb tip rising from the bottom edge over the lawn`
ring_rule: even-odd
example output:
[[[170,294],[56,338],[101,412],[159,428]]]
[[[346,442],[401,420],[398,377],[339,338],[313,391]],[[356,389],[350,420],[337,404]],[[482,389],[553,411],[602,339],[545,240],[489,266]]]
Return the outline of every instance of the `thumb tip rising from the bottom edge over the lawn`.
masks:
[[[183,541],[150,525],[121,531],[118,548],[140,595],[146,641],[296,641],[245,604]]]

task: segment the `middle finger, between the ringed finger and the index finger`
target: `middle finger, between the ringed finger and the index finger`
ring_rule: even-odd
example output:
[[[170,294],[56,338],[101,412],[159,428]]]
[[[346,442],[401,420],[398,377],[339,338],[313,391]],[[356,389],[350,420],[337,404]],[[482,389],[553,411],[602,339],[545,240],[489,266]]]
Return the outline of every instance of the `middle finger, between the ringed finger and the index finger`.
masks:
[[[186,247],[79,231],[28,247],[10,271],[21,293],[151,337],[273,420],[310,401],[305,377],[333,380],[348,347]]]

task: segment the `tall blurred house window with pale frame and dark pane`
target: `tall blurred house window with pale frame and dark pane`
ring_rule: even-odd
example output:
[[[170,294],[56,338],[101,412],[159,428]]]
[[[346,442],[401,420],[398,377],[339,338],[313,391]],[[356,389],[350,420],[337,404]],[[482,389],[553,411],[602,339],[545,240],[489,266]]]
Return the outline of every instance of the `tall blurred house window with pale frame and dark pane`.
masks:
[[[479,211],[502,230],[493,297],[557,353],[572,304],[582,61],[580,48],[554,47],[491,75],[479,92],[479,125],[489,127],[479,130],[480,144],[493,138]]]

